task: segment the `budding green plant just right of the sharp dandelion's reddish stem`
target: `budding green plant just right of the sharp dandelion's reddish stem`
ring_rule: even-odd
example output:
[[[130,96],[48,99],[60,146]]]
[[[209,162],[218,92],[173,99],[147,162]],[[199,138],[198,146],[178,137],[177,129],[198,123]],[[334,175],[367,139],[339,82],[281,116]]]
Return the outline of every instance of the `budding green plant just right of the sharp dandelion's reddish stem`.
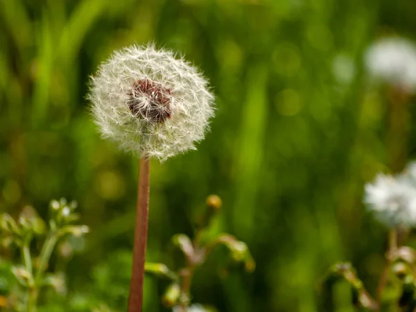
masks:
[[[185,259],[185,266],[178,270],[171,270],[164,263],[146,263],[146,272],[163,277],[170,281],[162,297],[162,303],[175,312],[209,312],[213,308],[201,304],[191,304],[191,283],[196,269],[202,266],[209,254],[218,245],[223,245],[231,253],[234,262],[243,263],[245,270],[252,272],[256,266],[248,246],[231,234],[223,233],[210,239],[211,220],[218,214],[222,202],[216,195],[207,198],[205,211],[196,222],[191,239],[186,234],[175,234],[172,242],[179,248]]]

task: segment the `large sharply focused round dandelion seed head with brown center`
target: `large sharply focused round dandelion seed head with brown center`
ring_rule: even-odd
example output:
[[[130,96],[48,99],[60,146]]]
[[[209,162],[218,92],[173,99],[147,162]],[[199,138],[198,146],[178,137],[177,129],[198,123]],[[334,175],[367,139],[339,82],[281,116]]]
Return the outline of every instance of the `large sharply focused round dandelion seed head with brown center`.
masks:
[[[152,45],[115,51],[92,77],[87,97],[103,137],[161,161],[196,149],[214,116],[202,74]]]

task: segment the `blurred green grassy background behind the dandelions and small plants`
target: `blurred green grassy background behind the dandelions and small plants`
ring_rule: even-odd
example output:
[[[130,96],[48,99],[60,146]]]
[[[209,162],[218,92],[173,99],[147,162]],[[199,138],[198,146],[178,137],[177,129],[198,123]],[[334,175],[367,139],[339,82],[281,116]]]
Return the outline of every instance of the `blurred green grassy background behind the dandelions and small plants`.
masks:
[[[100,139],[85,94],[114,49],[147,42],[198,65],[218,109],[198,151],[152,164],[148,260],[171,265],[171,236],[191,235],[216,193],[218,232],[248,243],[257,270],[221,274],[218,254],[196,273],[195,302],[320,311],[319,280],[337,260],[374,293],[386,230],[361,198],[386,167],[388,106],[363,52],[381,35],[412,37],[414,12],[413,0],[0,0],[0,211],[45,216],[66,197],[92,229],[54,309],[94,297],[125,310],[138,160]],[[146,277],[144,311],[168,311],[165,286]],[[349,298],[336,289],[337,311],[353,311]]]

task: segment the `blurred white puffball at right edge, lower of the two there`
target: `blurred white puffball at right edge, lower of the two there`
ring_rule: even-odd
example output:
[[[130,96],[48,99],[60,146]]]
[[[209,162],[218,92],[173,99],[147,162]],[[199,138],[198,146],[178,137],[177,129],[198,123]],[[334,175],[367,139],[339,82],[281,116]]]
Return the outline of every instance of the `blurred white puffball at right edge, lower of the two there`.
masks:
[[[416,225],[416,187],[404,176],[380,173],[374,182],[365,184],[364,202],[388,227]]]

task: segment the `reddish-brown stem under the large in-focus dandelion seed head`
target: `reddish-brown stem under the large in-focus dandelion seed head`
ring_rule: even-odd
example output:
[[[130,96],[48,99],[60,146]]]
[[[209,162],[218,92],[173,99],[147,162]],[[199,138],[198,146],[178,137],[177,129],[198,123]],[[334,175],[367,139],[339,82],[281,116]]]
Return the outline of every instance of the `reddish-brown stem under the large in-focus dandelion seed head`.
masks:
[[[148,231],[150,162],[140,158],[139,188],[137,197],[135,245],[133,247],[132,278],[128,298],[128,312],[141,312],[144,288],[144,261]]]

